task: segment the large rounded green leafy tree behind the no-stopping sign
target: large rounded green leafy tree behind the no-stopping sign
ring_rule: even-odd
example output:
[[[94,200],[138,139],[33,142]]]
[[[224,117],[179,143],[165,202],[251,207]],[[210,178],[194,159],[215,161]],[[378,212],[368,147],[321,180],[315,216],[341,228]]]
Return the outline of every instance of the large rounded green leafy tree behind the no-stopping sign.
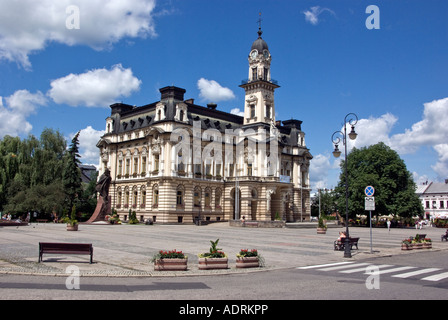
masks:
[[[415,194],[415,183],[400,156],[383,142],[354,148],[347,156],[349,185],[349,216],[365,214],[364,189],[375,188],[376,215],[411,217],[423,214],[423,207]],[[345,213],[345,162],[336,187],[339,212]]]

